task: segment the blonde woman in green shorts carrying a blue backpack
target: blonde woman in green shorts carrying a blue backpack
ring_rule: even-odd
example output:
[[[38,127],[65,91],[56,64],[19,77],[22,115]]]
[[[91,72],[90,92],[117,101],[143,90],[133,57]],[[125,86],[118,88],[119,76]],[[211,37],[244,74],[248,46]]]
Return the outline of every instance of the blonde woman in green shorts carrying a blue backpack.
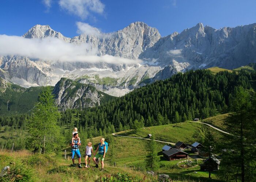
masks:
[[[99,143],[97,149],[94,152],[93,161],[94,161],[96,167],[98,168],[99,165],[98,165],[96,159],[100,158],[101,159],[101,171],[104,171],[104,158],[105,158],[106,152],[108,151],[108,143],[105,142],[105,138],[101,138],[100,142],[101,143]],[[97,153],[97,151],[98,151],[98,154],[95,155],[95,153]]]

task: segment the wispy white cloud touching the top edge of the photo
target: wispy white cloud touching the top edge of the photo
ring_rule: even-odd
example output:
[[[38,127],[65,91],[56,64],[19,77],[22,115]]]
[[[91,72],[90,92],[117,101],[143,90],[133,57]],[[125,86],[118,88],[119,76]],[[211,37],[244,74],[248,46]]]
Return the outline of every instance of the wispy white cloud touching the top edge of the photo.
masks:
[[[60,0],[59,5],[69,13],[86,19],[90,12],[103,13],[105,5],[100,0]]]

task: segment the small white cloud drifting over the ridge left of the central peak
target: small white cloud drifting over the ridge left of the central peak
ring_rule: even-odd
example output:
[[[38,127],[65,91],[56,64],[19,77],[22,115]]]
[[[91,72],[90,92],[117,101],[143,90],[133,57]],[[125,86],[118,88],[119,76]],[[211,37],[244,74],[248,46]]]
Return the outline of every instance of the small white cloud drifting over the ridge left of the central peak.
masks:
[[[95,35],[99,38],[109,38],[112,36],[111,33],[101,33],[97,28],[92,27],[88,23],[83,23],[83,22],[78,21],[78,22],[76,22],[76,26],[78,28],[76,33],[79,33],[79,34]]]

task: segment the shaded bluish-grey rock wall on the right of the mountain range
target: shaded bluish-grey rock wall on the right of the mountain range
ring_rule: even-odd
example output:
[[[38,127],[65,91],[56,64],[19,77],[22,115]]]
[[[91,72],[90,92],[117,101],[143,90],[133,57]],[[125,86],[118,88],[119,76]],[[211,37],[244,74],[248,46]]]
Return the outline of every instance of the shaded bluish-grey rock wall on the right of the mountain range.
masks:
[[[180,34],[161,37],[141,59],[158,59],[161,65],[171,60],[188,62],[191,68],[218,66],[233,69],[256,62],[256,24],[214,29],[202,23]]]

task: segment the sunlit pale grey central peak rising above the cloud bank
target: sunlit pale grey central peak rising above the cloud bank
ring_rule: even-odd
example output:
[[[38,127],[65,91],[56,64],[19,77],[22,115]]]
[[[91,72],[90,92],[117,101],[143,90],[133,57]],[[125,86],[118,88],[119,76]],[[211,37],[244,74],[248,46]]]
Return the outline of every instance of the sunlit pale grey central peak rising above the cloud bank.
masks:
[[[139,55],[160,39],[158,30],[143,22],[135,22],[117,32],[99,38],[91,35],[79,35],[71,43],[91,43],[98,48],[99,55],[112,55],[122,58],[138,59]]]

